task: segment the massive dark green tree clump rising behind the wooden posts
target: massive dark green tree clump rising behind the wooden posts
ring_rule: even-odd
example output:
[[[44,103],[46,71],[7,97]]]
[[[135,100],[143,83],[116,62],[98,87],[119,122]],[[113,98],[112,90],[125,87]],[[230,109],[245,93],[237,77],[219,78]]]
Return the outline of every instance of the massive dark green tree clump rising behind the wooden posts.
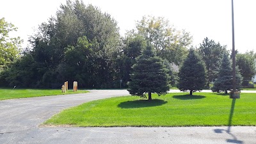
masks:
[[[87,88],[119,86],[117,22],[91,4],[61,4],[56,17],[42,23],[30,42],[33,49],[0,74],[1,83],[7,82],[2,86],[60,88],[64,81],[79,81]]]

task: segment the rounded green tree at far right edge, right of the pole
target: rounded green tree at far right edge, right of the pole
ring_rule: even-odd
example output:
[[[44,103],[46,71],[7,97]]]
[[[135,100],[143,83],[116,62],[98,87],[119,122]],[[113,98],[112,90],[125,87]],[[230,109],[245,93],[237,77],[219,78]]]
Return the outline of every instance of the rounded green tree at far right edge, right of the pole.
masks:
[[[236,54],[236,65],[243,76],[243,86],[247,86],[252,77],[256,74],[256,67],[253,58],[254,52],[246,52],[244,54]]]

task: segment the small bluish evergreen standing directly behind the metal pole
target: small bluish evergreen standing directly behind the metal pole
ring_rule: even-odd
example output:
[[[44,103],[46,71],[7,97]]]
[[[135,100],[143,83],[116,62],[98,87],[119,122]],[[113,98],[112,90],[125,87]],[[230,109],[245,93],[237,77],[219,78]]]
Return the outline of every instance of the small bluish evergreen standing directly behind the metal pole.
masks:
[[[236,88],[241,88],[243,77],[241,76],[238,67],[236,67]],[[221,61],[219,76],[213,84],[212,92],[225,92],[233,88],[232,65],[226,53],[223,54]]]

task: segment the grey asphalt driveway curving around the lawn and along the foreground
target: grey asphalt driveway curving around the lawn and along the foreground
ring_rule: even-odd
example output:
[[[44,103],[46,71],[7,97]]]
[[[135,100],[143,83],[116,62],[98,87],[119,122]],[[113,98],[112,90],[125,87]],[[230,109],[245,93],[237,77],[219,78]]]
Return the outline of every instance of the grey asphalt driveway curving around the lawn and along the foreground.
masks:
[[[0,144],[256,143],[256,127],[38,127],[65,108],[126,90],[0,100]]]

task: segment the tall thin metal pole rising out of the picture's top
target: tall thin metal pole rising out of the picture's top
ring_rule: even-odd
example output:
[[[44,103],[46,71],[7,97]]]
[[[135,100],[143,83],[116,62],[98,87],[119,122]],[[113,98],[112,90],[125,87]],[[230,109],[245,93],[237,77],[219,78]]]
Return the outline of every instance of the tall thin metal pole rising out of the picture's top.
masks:
[[[236,51],[235,51],[235,32],[234,32],[234,6],[232,0],[232,66],[233,66],[233,93],[236,92]]]

